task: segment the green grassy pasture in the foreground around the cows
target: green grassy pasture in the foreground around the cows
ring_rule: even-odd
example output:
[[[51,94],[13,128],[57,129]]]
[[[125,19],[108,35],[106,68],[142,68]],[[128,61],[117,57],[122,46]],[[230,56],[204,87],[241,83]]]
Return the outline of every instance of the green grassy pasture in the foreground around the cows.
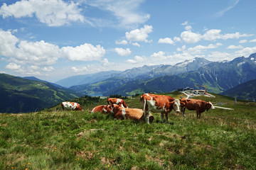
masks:
[[[194,111],[186,111],[185,118],[171,113],[169,124],[153,113],[154,123],[146,125],[89,113],[105,103],[95,99],[82,105],[84,112],[59,112],[58,106],[1,114],[0,169],[256,169],[255,103],[201,98],[235,111],[216,108],[200,120]],[[139,96],[125,101],[140,107]]]

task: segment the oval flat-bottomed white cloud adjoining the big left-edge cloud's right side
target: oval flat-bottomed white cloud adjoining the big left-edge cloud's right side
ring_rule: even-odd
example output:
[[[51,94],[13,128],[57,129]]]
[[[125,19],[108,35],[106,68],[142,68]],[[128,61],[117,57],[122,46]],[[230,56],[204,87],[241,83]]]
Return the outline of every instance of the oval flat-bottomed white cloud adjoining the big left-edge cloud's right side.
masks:
[[[71,61],[95,61],[105,55],[105,49],[100,45],[93,46],[85,43],[77,47],[62,47],[61,54]]]

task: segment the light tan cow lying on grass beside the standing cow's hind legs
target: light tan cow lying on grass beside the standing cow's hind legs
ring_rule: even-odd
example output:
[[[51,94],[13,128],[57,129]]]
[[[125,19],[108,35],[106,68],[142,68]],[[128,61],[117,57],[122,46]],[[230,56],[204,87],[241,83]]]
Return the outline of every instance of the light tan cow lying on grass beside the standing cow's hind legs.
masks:
[[[115,106],[113,108],[114,118],[119,120],[130,119],[130,120],[142,120],[143,111],[139,108],[121,108],[119,106]],[[154,120],[154,116],[150,114],[149,122],[152,123]]]

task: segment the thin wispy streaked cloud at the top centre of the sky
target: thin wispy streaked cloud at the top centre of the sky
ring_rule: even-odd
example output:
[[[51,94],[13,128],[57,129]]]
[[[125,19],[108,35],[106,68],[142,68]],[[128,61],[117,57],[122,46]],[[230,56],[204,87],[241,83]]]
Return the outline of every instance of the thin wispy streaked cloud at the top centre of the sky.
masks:
[[[148,13],[138,10],[144,0],[86,0],[85,4],[100,8],[103,11],[110,11],[118,21],[118,26],[122,28],[133,28],[149,20]],[[105,22],[107,23],[107,22]]]

